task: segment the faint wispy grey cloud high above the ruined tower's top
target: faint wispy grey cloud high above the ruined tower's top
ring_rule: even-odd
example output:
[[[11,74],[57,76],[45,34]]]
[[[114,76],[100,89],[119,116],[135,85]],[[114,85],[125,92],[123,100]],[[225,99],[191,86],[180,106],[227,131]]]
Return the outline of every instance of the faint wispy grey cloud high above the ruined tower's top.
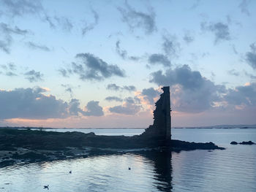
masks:
[[[162,43],[162,49],[164,50],[165,55],[177,57],[179,51],[181,50],[181,47],[176,37],[167,34],[164,35],[162,38],[164,40],[164,42]]]

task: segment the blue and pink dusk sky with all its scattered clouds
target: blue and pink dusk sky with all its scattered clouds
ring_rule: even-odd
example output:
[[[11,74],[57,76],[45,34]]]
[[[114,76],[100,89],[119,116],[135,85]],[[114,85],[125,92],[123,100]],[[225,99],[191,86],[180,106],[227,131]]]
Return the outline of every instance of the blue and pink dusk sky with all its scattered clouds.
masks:
[[[0,0],[0,126],[256,124],[256,1]]]

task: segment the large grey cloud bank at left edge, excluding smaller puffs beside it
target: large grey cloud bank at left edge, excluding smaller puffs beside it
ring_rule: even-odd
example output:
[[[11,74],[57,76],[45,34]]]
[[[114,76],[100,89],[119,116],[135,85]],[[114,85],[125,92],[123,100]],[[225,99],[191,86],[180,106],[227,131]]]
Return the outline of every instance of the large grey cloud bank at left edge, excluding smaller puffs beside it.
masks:
[[[66,118],[67,103],[55,96],[45,96],[42,88],[0,90],[0,118]]]

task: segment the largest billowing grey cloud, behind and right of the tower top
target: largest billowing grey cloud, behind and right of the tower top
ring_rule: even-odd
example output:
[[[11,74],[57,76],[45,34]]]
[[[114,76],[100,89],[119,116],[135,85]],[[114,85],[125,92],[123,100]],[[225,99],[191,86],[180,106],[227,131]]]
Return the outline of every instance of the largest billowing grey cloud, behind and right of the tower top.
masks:
[[[208,110],[225,93],[223,85],[214,85],[214,82],[202,77],[200,72],[192,71],[187,65],[167,69],[165,73],[153,72],[151,77],[150,82],[170,86],[172,105],[178,112]]]

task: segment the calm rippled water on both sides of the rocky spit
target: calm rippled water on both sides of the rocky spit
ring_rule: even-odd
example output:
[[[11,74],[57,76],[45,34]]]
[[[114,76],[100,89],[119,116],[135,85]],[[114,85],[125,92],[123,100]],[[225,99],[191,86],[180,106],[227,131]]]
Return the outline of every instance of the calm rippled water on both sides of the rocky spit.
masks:
[[[61,131],[61,130],[59,130]],[[65,131],[68,131],[65,129]],[[143,129],[83,129],[140,134]],[[256,129],[173,129],[174,139],[215,142],[227,150],[102,155],[0,169],[0,191],[256,191]],[[131,170],[128,170],[131,167]],[[72,170],[72,174],[69,174]]]

